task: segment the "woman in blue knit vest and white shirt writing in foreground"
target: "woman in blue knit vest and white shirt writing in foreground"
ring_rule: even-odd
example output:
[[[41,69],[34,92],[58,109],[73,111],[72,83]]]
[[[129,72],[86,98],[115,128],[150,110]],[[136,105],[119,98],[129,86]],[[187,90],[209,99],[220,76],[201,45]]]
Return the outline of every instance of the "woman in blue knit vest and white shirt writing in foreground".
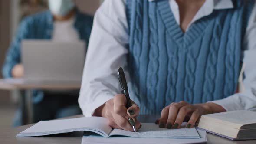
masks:
[[[204,114],[256,111],[255,39],[255,0],[105,0],[94,17],[79,105],[85,116],[127,131],[128,118],[139,114],[161,114],[160,128],[183,121],[191,128]],[[246,90],[235,93],[243,62]],[[133,100],[128,109],[119,67]]]

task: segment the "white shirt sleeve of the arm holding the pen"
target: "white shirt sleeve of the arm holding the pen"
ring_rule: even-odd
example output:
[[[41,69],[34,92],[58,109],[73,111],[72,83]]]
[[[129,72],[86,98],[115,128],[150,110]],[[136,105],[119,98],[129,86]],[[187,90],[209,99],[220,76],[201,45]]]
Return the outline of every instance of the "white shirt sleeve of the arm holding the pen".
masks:
[[[125,1],[105,0],[95,13],[78,100],[85,116],[121,93],[117,72],[123,67],[128,76],[127,47]]]

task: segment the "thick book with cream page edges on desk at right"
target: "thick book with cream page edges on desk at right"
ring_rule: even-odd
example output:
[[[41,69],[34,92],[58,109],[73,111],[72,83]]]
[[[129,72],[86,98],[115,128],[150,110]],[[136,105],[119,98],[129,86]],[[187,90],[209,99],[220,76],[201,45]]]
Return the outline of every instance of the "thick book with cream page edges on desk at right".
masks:
[[[227,111],[202,115],[197,128],[231,140],[256,139],[256,112]]]

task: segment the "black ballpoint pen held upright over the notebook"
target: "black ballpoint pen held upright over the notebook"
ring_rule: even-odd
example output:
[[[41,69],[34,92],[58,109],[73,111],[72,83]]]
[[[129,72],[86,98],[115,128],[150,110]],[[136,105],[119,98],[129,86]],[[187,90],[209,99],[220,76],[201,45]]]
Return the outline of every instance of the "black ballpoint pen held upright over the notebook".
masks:
[[[129,108],[129,107],[131,107],[131,99],[130,99],[130,96],[129,96],[128,86],[127,86],[126,79],[125,79],[125,72],[123,71],[122,67],[120,67],[118,69],[117,75],[118,75],[118,79],[119,79],[123,94],[125,95],[125,98],[126,98],[126,101],[127,101],[126,102],[126,108]],[[133,130],[136,132],[135,121],[133,121],[132,118],[129,118],[128,121],[133,122],[133,124],[131,124],[131,122],[130,122],[130,124],[131,124]]]

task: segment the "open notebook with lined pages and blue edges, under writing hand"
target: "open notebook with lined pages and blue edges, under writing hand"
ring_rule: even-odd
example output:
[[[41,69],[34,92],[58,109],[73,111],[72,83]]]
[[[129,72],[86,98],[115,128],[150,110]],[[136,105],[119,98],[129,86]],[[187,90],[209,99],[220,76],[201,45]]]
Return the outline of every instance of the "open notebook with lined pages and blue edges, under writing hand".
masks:
[[[143,138],[200,138],[195,128],[186,128],[185,123],[180,129],[159,128],[153,123],[142,123],[138,132],[124,131],[111,128],[106,118],[84,117],[64,120],[40,121],[22,131],[17,137],[33,137],[50,134],[60,134],[72,131],[90,131],[103,137],[114,135]]]

